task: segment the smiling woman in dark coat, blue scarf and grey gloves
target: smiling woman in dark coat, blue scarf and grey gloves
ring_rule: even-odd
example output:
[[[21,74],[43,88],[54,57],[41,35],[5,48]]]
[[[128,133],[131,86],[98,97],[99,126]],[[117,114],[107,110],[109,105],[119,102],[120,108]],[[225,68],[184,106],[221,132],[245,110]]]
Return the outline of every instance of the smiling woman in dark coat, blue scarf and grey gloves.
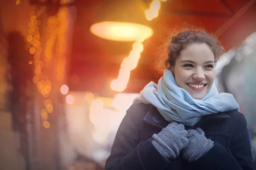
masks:
[[[214,84],[222,49],[204,31],[171,38],[167,69],[128,109],[106,170],[252,170],[246,120]]]

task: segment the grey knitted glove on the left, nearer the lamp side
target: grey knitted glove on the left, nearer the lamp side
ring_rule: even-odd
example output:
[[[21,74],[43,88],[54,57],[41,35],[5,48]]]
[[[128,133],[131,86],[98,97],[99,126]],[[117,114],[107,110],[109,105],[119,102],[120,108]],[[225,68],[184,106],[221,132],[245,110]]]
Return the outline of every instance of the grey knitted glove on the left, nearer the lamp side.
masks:
[[[152,136],[152,144],[166,159],[175,159],[189,143],[187,135],[184,125],[172,122]]]

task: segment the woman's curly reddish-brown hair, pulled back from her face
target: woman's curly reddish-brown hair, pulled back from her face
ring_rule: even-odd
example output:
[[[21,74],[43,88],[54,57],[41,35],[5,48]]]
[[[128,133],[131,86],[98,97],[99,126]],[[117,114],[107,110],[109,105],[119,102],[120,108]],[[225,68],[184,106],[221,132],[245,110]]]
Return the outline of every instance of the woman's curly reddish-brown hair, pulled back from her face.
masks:
[[[166,43],[163,45],[158,56],[158,71],[163,71],[163,64],[169,62],[171,66],[175,65],[176,59],[180,56],[180,51],[184,50],[187,45],[192,43],[206,43],[211,48],[215,61],[221,57],[224,52],[224,48],[219,40],[212,34],[208,34],[202,29],[186,29],[180,31],[177,34],[173,34],[172,31],[169,37],[167,37]]]

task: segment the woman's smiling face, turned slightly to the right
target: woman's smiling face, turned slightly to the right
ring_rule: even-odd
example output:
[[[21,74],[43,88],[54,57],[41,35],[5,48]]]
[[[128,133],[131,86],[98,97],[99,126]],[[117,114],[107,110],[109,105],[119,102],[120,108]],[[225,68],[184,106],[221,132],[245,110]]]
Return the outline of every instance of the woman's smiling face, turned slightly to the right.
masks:
[[[194,99],[202,99],[215,78],[215,58],[206,43],[193,43],[180,51],[175,66],[171,67],[175,81]]]

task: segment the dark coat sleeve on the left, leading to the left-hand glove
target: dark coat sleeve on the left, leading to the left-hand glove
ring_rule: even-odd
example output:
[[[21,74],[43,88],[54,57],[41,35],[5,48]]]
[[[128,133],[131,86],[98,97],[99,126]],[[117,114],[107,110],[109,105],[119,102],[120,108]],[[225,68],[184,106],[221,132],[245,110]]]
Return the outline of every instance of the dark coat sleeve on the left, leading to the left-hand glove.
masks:
[[[129,108],[123,118],[108,157],[105,170],[161,170],[167,161],[154,148],[151,138],[140,142],[136,108]]]

